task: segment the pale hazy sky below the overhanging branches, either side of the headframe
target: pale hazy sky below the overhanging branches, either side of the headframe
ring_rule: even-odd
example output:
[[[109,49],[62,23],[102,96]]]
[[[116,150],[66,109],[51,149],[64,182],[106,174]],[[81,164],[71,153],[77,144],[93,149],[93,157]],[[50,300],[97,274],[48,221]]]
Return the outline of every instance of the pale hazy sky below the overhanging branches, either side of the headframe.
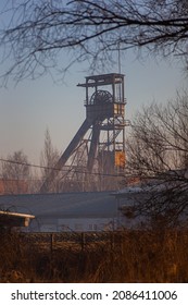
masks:
[[[131,119],[142,105],[172,99],[188,83],[183,66],[175,61],[140,62],[129,51],[121,58],[121,72],[126,75],[126,119]],[[0,89],[0,157],[23,149],[30,162],[39,163],[47,127],[52,144],[60,151],[66,148],[85,120],[85,88],[76,85],[89,76],[89,72],[83,72],[87,68],[87,63],[74,65],[65,84],[54,84],[46,76]],[[114,72],[118,72],[117,64]]]

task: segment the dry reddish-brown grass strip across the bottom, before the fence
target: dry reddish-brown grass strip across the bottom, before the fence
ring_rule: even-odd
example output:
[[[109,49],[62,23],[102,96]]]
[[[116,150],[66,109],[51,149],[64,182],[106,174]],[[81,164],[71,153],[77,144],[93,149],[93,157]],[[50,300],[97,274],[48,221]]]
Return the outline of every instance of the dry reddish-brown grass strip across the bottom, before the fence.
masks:
[[[0,282],[188,282],[188,231],[113,232],[85,247],[60,236],[0,233]]]

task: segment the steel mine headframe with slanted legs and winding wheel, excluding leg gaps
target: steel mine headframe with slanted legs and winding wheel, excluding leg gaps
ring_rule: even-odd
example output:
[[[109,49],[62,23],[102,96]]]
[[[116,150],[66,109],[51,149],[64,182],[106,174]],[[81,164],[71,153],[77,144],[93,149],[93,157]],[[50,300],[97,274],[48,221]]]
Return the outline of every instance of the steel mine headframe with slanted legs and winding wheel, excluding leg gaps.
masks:
[[[87,76],[86,88],[86,119],[70,145],[66,147],[49,176],[41,185],[40,192],[51,190],[51,183],[58,170],[78,151],[84,139],[87,141],[87,170],[92,172],[98,160],[102,173],[112,173],[114,169],[124,169],[125,163],[125,98],[124,75],[117,73]],[[89,137],[87,137],[88,131]],[[100,137],[100,135],[102,136]]]

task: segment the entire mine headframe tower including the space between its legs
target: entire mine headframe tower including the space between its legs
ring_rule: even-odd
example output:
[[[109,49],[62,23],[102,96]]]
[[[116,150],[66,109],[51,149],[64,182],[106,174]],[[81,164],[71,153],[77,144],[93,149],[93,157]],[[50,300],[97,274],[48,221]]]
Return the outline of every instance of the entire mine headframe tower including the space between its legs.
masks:
[[[86,88],[86,119],[43,182],[41,193],[49,192],[57,175],[57,191],[110,190],[125,167],[124,75],[87,76],[77,86]]]

